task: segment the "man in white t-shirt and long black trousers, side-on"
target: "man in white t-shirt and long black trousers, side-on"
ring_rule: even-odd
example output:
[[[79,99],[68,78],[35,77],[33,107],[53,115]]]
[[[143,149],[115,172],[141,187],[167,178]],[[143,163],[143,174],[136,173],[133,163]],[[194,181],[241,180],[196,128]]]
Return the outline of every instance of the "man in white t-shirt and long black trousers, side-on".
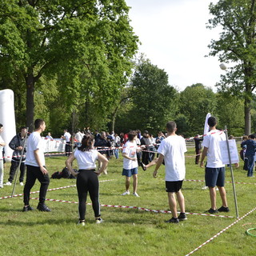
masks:
[[[46,123],[42,119],[34,121],[34,132],[30,134],[26,147],[26,184],[24,186],[24,207],[23,211],[34,210],[30,206],[30,190],[34,186],[36,179],[41,183],[39,192],[38,210],[51,211],[45,204],[46,192],[50,183],[46,160],[44,155],[44,145],[40,134],[46,130]]]

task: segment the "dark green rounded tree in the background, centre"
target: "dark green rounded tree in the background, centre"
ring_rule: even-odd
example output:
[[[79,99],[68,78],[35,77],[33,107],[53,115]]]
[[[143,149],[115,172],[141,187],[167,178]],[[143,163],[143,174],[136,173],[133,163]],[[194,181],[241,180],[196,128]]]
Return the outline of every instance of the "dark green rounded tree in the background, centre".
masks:
[[[146,129],[155,133],[164,130],[166,122],[174,118],[178,107],[178,92],[169,85],[166,71],[142,56],[135,67],[130,86],[130,101],[133,104],[130,106],[130,101],[127,100],[130,110],[126,112],[126,116],[118,116],[118,122],[128,122],[129,126],[122,128],[125,131]],[[121,128],[120,123],[118,127]]]

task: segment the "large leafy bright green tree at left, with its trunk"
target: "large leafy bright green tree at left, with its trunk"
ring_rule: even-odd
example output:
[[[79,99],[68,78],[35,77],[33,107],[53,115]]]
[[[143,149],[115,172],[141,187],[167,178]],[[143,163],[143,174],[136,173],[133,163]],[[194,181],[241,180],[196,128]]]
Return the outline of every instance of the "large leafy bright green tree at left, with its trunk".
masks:
[[[34,92],[43,76],[56,78],[70,106],[97,94],[98,106],[106,109],[114,90],[125,83],[137,50],[128,11],[124,0],[1,1],[2,85],[26,84],[30,129]]]

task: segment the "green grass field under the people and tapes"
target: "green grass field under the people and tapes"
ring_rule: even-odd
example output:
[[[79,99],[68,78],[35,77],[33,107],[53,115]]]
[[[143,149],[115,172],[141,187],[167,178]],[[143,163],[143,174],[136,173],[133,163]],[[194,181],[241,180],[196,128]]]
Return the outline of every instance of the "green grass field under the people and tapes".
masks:
[[[204,170],[194,165],[194,149],[186,153],[186,179],[204,180]],[[46,158],[50,174],[62,170],[65,157]],[[242,162],[241,162],[242,165]],[[75,167],[75,166],[74,166]],[[4,181],[9,177],[10,163],[6,163]],[[138,174],[138,194],[121,196],[125,191],[122,177],[122,158],[110,159],[108,174],[99,177],[100,202],[103,205],[135,206],[150,210],[169,210],[165,191],[163,166],[158,178],[153,178],[154,167]],[[238,197],[239,217],[256,207],[256,178],[247,178],[242,167],[234,170]],[[34,210],[22,212],[22,197],[0,200],[0,255],[186,255],[215,234],[234,223],[235,208],[230,169],[226,169],[226,192],[230,213],[234,218],[201,215],[210,208],[209,191],[202,190],[204,182],[183,182],[186,199],[187,221],[167,224],[170,214],[148,212],[132,208],[102,206],[100,225],[94,223],[91,206],[87,206],[86,226],[77,226],[78,202],[74,179],[51,179],[46,198],[70,202],[46,202],[52,212]],[[250,183],[250,184],[248,184]],[[37,191],[37,182],[32,191]],[[11,194],[12,186],[0,190],[0,198]],[[22,194],[16,186],[15,194]],[[37,198],[37,194],[31,194]],[[90,198],[88,198],[90,202]],[[38,200],[31,199],[36,208]],[[219,194],[217,206],[221,206]],[[194,215],[192,215],[194,213]],[[256,210],[234,226],[195,251],[193,255],[256,255],[256,238],[247,235],[249,228],[256,228]],[[252,231],[253,233],[254,231]],[[254,233],[256,235],[256,232]]]

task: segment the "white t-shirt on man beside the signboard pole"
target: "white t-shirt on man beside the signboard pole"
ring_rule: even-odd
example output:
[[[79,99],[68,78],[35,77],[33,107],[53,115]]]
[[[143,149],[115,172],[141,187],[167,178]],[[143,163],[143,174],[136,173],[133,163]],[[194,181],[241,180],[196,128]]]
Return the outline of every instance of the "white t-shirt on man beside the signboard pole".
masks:
[[[222,163],[221,150],[219,142],[225,141],[226,135],[219,130],[210,130],[203,138],[202,146],[206,146],[207,150],[207,164],[206,167],[220,168],[224,167]]]

